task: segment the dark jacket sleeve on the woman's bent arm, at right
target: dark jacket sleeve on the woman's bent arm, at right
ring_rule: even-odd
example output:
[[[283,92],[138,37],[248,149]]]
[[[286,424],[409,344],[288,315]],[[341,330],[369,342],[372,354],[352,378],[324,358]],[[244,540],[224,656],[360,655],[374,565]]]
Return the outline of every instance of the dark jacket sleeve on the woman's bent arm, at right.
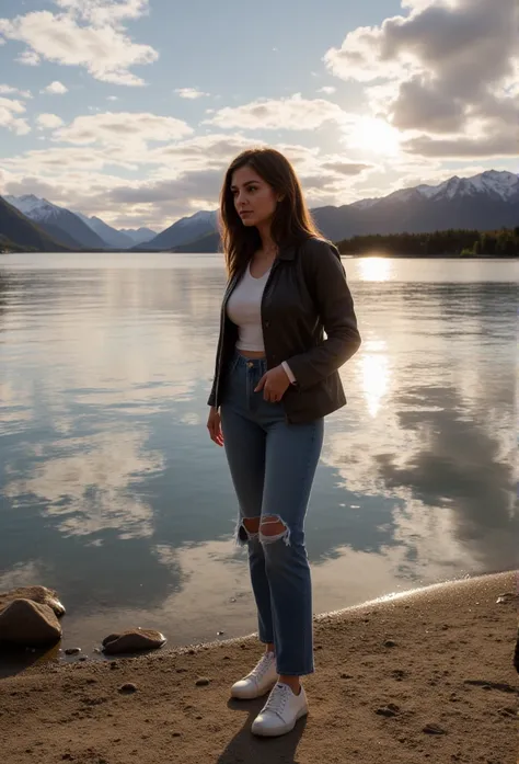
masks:
[[[326,332],[322,344],[286,358],[298,386],[304,389],[343,366],[360,347],[360,334],[337,248],[327,241],[311,239],[300,256],[309,292]]]

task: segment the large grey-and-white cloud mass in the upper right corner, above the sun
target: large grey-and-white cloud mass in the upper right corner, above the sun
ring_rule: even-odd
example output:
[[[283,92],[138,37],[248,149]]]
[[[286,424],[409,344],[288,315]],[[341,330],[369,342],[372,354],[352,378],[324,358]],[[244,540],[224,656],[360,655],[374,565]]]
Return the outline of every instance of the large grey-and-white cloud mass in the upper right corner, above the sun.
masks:
[[[498,114],[517,124],[516,0],[403,7],[408,15],[346,35],[324,56],[328,70],[367,83],[372,112],[405,134],[404,150],[460,159],[511,153],[512,130]]]

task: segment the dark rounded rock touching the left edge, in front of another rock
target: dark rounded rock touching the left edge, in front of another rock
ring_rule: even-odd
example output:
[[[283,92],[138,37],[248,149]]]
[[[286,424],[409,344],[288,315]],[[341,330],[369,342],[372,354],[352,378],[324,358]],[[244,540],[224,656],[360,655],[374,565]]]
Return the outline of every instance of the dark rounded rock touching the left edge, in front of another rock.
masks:
[[[0,613],[0,642],[48,645],[61,638],[54,611],[32,600],[13,600]]]

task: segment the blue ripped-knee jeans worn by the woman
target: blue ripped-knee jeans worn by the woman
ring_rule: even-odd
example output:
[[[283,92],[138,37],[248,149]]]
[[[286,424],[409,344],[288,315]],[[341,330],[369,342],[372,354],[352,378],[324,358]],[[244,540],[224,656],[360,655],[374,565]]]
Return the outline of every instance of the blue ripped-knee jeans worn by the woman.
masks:
[[[324,420],[285,421],[282,402],[254,388],[264,358],[235,352],[220,407],[226,455],[240,505],[237,540],[249,547],[251,582],[262,642],[276,648],[277,671],[313,673],[312,584],[304,516],[324,434]],[[243,520],[279,520],[284,533],[250,533]]]

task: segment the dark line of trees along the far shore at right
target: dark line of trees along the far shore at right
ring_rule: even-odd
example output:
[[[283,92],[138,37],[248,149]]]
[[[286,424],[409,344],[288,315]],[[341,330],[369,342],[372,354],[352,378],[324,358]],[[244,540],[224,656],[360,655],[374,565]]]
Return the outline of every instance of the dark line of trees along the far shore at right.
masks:
[[[514,258],[519,255],[519,226],[497,231],[450,228],[429,233],[371,233],[337,242],[341,254],[405,254]]]

